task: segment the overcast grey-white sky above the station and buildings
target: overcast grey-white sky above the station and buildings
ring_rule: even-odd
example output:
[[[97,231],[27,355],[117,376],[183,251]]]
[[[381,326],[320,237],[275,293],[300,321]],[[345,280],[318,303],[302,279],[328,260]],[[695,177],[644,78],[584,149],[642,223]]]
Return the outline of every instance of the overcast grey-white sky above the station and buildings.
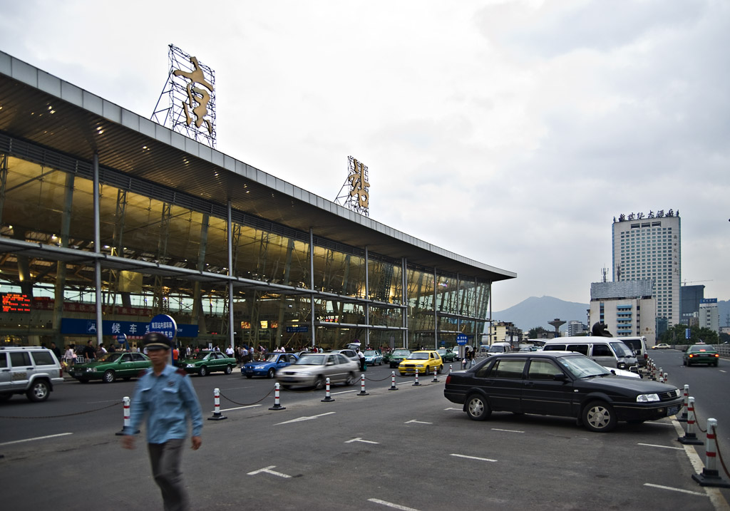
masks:
[[[118,4],[120,7],[110,7]],[[149,117],[168,45],[215,70],[218,150],[507,269],[493,310],[587,303],[621,213],[680,211],[730,299],[730,1],[0,0],[0,49]],[[609,279],[611,279],[611,273]]]

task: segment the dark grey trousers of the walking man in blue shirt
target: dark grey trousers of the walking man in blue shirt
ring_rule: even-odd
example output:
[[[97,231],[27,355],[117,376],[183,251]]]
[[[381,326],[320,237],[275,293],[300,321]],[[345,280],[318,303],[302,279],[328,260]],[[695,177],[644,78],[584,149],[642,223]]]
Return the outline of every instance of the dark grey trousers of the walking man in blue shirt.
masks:
[[[185,491],[180,463],[183,461],[185,439],[172,439],[164,444],[147,444],[152,464],[152,475],[160,487],[165,511],[188,509],[188,492]]]

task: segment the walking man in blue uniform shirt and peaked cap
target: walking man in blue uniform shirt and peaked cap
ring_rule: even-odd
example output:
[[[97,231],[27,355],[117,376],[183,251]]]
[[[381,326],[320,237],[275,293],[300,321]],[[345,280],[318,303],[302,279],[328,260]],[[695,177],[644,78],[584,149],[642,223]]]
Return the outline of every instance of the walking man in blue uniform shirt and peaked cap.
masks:
[[[147,450],[164,509],[187,510],[188,493],[180,472],[183,442],[188,436],[186,417],[193,423],[193,450],[197,450],[202,442],[203,414],[188,375],[168,364],[170,340],[153,332],[145,335],[144,342],[152,367],[137,382],[131,403],[131,426],[122,437],[123,447],[134,449],[133,433],[146,415]]]

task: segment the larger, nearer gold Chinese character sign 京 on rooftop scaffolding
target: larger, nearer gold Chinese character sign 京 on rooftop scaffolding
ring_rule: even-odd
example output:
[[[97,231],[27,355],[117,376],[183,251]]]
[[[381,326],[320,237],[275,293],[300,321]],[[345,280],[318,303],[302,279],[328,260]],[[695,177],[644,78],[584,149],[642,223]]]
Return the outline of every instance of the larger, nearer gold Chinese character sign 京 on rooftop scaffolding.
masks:
[[[173,45],[168,56],[167,82],[152,120],[215,147],[215,73]]]

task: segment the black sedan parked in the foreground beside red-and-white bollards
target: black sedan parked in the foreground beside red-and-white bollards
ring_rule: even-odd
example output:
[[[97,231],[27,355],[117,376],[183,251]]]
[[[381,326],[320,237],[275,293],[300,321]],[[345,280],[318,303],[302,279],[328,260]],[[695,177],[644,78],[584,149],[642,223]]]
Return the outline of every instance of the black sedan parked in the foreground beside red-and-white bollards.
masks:
[[[616,376],[580,353],[503,353],[450,374],[444,396],[464,404],[473,420],[492,412],[577,418],[591,431],[619,420],[641,423],[677,414],[683,396],[674,385]]]

